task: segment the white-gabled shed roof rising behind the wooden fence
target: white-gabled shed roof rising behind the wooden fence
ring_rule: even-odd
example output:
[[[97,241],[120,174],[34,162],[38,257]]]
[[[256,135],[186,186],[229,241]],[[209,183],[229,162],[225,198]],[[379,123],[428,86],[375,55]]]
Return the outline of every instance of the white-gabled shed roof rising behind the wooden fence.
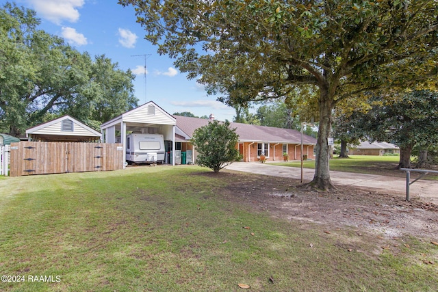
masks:
[[[62,116],[26,130],[29,141],[99,142],[101,133],[70,116]]]

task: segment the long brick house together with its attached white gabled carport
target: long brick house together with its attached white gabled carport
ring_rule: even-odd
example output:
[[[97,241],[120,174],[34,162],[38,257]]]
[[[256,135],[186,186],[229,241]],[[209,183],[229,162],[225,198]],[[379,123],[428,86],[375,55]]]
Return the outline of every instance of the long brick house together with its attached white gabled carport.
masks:
[[[196,151],[190,139],[196,129],[207,125],[209,121],[202,118],[172,116],[153,101],[149,101],[103,123],[101,131],[103,142],[120,142],[123,144],[123,152],[127,151],[126,139],[116,137],[116,131],[121,137],[126,137],[127,133],[162,134],[168,153],[165,163],[175,165],[184,163],[184,158],[185,163],[196,161]],[[290,160],[300,159],[301,133],[299,131],[235,122],[231,123],[231,128],[235,128],[240,137],[239,145],[236,147],[239,148],[243,161],[258,161],[261,152],[264,152],[268,160],[281,161],[284,152],[288,153]],[[309,135],[303,137],[304,154],[308,158],[313,158],[316,139]],[[182,161],[179,155],[183,157]]]

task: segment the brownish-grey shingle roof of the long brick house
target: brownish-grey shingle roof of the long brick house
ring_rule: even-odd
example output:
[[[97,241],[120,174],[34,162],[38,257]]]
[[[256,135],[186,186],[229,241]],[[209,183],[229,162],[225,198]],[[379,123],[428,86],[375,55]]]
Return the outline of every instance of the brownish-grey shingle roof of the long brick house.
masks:
[[[209,120],[203,118],[185,116],[175,116],[175,118],[177,119],[177,127],[190,137],[192,137],[196,129],[207,125],[209,122]],[[241,142],[301,144],[301,132],[292,129],[241,124],[239,122],[231,122],[230,127],[236,129]],[[316,144],[316,139],[309,135],[304,135],[304,144]]]

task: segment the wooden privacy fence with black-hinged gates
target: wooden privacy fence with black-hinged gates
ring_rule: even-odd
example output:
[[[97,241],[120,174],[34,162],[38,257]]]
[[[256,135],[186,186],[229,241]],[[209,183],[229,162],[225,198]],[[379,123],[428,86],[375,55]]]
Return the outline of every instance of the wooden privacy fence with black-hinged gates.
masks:
[[[10,176],[120,170],[122,144],[73,142],[12,143]]]

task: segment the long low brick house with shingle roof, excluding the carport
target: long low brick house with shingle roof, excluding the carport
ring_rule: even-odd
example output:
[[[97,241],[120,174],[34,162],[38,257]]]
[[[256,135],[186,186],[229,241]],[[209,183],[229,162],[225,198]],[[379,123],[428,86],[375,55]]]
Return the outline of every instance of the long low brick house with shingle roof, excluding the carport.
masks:
[[[211,117],[211,116],[210,116]],[[177,132],[175,141],[181,143],[181,150],[192,150],[190,139],[194,131],[209,123],[210,120],[175,116],[177,119]],[[301,133],[292,129],[258,126],[255,124],[230,123],[231,129],[236,129],[239,135],[239,152],[245,162],[259,161],[261,153],[266,155],[268,161],[282,161],[283,153],[287,152],[290,160],[299,160],[301,151]],[[313,158],[313,147],[316,139],[303,135],[303,154]],[[196,161],[194,151],[193,161]]]

